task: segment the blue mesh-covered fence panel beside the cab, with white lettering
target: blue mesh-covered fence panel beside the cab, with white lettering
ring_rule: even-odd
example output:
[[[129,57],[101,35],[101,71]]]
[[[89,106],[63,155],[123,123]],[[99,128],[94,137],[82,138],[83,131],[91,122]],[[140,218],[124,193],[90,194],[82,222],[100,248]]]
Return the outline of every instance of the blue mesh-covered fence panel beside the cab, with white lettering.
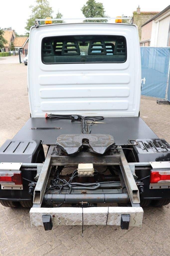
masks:
[[[170,47],[140,47],[140,50],[142,67],[141,94],[165,99]]]

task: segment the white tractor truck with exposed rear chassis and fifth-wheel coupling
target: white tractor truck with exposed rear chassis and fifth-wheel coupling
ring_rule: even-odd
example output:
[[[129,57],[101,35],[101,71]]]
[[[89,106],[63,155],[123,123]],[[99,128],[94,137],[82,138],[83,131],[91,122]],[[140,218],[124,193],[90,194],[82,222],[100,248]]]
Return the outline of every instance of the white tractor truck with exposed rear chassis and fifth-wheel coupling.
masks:
[[[139,116],[137,27],[37,21],[28,51],[31,117],[0,147],[0,203],[45,230],[141,227],[170,202],[170,145]]]

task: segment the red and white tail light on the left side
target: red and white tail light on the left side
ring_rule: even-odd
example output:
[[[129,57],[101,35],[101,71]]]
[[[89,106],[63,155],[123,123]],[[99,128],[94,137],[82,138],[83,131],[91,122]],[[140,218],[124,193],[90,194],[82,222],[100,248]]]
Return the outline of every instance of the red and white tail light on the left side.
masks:
[[[22,185],[22,177],[21,172],[16,171],[14,172],[0,172],[0,184],[15,184],[15,185]]]

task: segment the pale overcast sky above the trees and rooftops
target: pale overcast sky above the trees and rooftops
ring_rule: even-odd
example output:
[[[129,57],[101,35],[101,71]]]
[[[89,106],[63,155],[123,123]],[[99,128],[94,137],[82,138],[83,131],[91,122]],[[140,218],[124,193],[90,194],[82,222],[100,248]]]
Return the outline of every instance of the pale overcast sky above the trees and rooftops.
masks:
[[[61,12],[65,18],[80,18],[83,17],[80,9],[87,2],[87,0],[49,0],[49,2],[54,11],[54,16],[59,9],[59,12]],[[122,14],[125,16],[132,16],[133,11],[136,10],[138,5],[140,5],[141,11],[162,11],[169,5],[169,0],[96,0],[96,2],[103,3],[106,15],[110,17],[121,16]],[[31,15],[29,6],[34,5],[34,3],[34,0],[15,0],[15,2],[9,0],[7,8],[3,9],[1,5],[2,8],[0,14],[0,27],[12,27],[18,34],[25,34],[26,22],[29,18],[29,15]]]

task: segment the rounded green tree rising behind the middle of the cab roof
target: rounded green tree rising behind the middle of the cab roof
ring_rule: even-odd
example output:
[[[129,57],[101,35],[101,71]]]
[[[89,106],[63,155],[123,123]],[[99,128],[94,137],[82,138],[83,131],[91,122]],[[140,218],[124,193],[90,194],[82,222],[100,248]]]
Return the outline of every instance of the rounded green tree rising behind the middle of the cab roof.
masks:
[[[102,3],[96,3],[95,0],[88,0],[81,8],[82,13],[86,18],[102,17],[107,18]],[[106,20],[85,20],[84,22],[107,22]]]

